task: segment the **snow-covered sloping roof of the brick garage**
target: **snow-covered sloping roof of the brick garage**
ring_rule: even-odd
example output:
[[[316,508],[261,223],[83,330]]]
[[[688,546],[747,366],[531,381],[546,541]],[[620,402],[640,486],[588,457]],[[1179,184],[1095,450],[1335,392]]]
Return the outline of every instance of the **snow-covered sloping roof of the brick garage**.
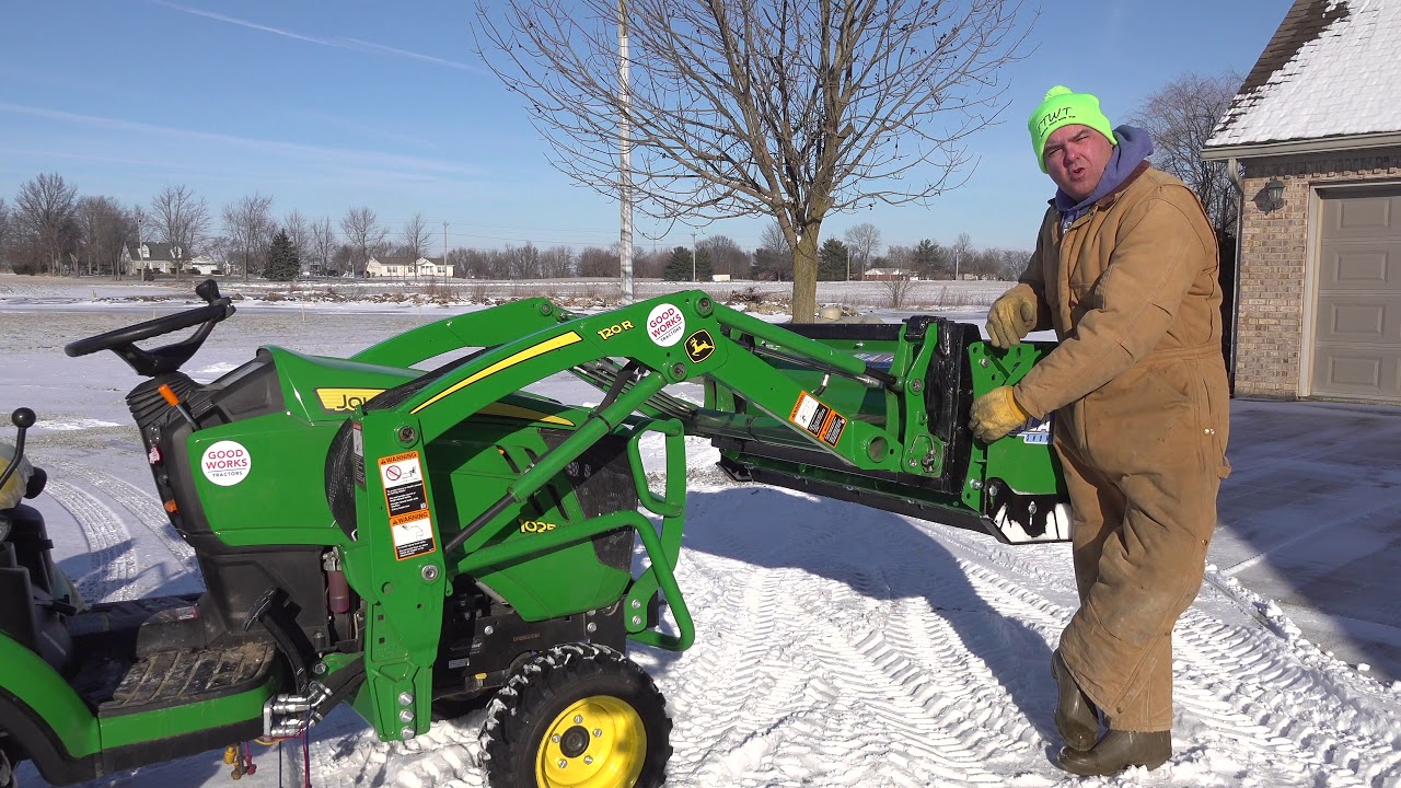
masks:
[[[1401,132],[1398,53],[1401,0],[1295,0],[1206,149]]]

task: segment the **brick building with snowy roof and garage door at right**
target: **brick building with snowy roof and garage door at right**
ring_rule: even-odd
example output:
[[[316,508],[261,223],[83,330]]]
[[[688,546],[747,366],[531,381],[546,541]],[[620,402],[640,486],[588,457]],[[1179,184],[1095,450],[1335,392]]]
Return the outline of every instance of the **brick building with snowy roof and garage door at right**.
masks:
[[[1401,0],[1295,0],[1202,150],[1243,172],[1236,393],[1401,405]]]

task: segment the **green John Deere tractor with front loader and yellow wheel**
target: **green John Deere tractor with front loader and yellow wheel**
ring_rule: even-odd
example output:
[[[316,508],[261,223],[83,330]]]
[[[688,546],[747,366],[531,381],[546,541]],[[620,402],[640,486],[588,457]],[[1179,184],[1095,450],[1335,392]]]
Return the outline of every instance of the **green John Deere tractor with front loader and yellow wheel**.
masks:
[[[702,292],[590,315],[530,299],[346,359],[259,348],[202,384],[181,366],[234,307],[213,282],[196,292],[205,306],[66,352],[111,351],[144,379],[126,401],[203,593],[78,599],[21,502],[45,477],[24,458],[34,412],[13,414],[0,787],[25,760],[70,784],[297,736],[338,704],[385,742],[490,704],[497,788],[660,785],[671,721],[626,648],[695,638],[675,578],[688,435],[736,480],[1006,543],[1069,533],[1049,425],[991,446],[965,425],[972,398],[1042,345],[996,352],[936,317],[779,327]],[[601,401],[524,391],[560,372]],[[682,381],[702,404],[667,391]],[[664,474],[643,467],[649,435]]]

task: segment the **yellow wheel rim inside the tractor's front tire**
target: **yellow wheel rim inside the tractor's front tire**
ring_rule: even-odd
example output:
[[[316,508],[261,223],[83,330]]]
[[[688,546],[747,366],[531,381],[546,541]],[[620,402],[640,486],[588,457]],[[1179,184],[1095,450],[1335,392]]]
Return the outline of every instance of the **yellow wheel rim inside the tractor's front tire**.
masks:
[[[632,788],[647,756],[647,731],[632,704],[583,698],[545,729],[535,757],[539,788]]]

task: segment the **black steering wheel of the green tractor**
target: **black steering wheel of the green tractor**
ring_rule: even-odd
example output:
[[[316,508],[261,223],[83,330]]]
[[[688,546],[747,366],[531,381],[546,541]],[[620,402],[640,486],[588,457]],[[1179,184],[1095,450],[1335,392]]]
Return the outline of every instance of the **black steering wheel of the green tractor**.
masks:
[[[64,345],[63,352],[69,356],[77,358],[95,353],[98,351],[112,351],[126,363],[132,365],[132,369],[134,369],[137,374],[144,374],[147,377],[175,372],[195,355],[195,351],[198,351],[200,345],[205,344],[205,338],[207,338],[209,332],[213,331],[214,324],[234,314],[233,303],[230,303],[227,297],[220,297],[219,283],[213,279],[200,282],[199,286],[195,287],[195,293],[209,301],[209,306],[156,317],[134,325],[116,328],[85,339],[77,339]],[[134,345],[142,339],[161,337],[192,325],[199,325],[199,331],[182,342],[175,342],[153,351],[143,351]]]

